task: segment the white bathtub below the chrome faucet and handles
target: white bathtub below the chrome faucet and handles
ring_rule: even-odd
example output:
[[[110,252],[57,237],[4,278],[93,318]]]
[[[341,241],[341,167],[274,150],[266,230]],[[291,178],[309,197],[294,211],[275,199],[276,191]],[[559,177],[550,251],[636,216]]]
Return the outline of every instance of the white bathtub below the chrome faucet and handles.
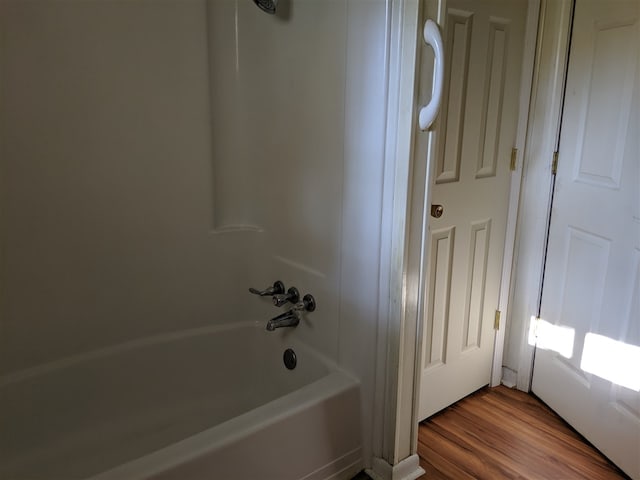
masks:
[[[0,478],[350,478],[358,382],[291,333],[191,330],[0,378]]]

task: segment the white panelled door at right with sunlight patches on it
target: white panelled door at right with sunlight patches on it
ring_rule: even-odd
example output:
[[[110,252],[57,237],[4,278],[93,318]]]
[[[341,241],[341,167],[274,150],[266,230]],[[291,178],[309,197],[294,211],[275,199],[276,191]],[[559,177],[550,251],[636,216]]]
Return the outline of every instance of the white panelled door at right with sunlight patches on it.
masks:
[[[533,392],[640,479],[640,1],[577,0]]]

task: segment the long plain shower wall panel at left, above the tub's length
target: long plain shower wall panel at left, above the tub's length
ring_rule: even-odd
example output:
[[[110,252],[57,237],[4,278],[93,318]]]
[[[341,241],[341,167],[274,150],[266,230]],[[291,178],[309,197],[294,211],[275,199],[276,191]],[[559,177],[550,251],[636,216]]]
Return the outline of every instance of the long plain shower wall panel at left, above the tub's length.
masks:
[[[253,240],[211,235],[205,2],[2,0],[0,32],[0,373],[246,319]]]

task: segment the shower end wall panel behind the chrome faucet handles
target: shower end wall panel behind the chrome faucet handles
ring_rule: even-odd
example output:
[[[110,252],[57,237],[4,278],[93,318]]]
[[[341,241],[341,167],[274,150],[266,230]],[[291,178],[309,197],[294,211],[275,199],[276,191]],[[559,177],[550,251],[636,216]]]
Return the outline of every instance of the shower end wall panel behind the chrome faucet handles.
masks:
[[[337,358],[349,2],[208,7],[213,230],[258,238],[256,285],[316,296],[295,334]]]

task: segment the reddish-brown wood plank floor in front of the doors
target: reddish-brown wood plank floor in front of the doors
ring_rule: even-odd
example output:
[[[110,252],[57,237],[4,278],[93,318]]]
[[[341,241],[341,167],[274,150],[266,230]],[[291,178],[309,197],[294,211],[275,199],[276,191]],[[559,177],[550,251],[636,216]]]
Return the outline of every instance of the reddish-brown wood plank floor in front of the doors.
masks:
[[[627,479],[542,402],[482,389],[420,424],[420,480]]]

